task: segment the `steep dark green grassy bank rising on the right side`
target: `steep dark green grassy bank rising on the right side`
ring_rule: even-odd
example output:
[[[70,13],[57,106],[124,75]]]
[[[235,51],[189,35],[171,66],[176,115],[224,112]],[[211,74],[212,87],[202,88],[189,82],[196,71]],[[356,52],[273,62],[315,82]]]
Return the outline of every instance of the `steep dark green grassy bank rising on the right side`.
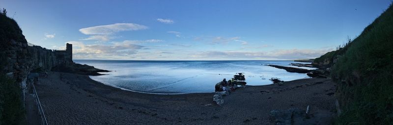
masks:
[[[325,63],[328,62],[328,63]],[[315,59],[331,65],[339,124],[393,124],[393,7],[345,47]]]

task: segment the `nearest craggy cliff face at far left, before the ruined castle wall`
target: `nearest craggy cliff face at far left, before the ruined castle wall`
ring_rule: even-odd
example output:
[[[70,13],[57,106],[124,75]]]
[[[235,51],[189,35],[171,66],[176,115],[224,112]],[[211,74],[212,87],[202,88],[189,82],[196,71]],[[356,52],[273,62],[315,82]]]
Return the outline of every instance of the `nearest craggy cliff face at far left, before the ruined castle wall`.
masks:
[[[0,15],[0,50],[0,73],[25,84],[32,68],[28,43],[16,21],[5,15]]]

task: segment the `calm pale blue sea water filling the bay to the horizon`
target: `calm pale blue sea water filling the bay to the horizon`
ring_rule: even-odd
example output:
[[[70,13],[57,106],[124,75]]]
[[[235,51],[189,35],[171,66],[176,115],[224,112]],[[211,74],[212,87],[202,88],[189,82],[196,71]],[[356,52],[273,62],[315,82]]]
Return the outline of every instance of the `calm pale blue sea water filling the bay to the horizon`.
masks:
[[[272,77],[283,81],[308,78],[265,64],[291,66],[293,61],[98,61],[76,60],[81,64],[111,70],[91,79],[126,90],[147,93],[214,92],[214,85],[244,72],[247,85],[266,85]],[[296,67],[296,66],[293,66]],[[302,67],[306,69],[314,69]]]

